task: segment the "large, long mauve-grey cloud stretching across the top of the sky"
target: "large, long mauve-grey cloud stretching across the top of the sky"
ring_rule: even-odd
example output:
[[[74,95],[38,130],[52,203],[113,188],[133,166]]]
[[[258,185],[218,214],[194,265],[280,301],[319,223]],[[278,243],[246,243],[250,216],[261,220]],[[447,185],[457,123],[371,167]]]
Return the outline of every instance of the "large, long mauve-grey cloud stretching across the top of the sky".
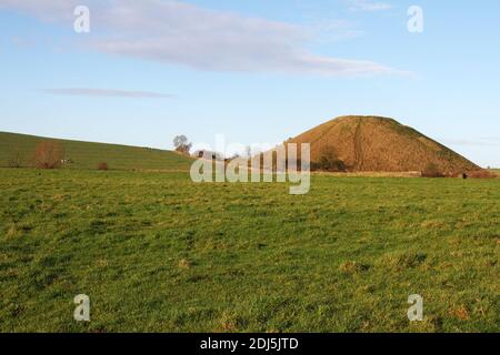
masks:
[[[79,0],[0,0],[7,7],[71,29]],[[92,32],[86,45],[132,58],[208,71],[321,75],[402,73],[370,60],[339,59],[307,50],[313,29],[213,11],[176,0],[87,0]],[[359,8],[370,6],[361,1]],[[380,8],[381,4],[371,6]],[[356,36],[357,33],[351,33]]]

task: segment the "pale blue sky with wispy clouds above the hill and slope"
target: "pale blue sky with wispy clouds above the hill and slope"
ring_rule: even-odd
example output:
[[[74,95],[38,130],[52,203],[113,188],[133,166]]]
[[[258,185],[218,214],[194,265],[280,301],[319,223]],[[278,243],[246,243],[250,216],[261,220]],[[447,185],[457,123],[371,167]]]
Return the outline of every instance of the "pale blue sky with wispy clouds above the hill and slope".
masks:
[[[0,131],[171,149],[381,115],[500,168],[498,0],[0,0]]]

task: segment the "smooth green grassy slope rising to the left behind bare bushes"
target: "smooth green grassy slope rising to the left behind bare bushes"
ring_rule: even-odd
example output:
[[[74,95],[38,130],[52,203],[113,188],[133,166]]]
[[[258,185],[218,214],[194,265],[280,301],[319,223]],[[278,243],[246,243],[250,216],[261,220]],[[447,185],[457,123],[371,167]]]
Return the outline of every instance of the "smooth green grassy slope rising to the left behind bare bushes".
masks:
[[[104,143],[90,143],[69,140],[0,132],[0,166],[8,166],[16,150],[22,154],[22,165],[31,166],[34,148],[42,141],[57,141],[64,146],[66,159],[71,159],[68,169],[96,169],[101,162],[112,170],[188,170],[190,159],[171,151],[151,150]]]

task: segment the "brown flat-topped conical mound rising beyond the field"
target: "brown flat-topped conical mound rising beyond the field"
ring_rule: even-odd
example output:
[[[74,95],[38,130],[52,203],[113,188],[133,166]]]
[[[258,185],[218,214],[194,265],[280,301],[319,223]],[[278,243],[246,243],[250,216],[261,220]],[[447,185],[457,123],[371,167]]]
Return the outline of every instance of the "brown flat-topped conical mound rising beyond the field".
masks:
[[[334,155],[350,171],[426,171],[433,165],[444,174],[480,170],[478,165],[396,120],[341,116],[287,143],[311,143],[311,161]]]

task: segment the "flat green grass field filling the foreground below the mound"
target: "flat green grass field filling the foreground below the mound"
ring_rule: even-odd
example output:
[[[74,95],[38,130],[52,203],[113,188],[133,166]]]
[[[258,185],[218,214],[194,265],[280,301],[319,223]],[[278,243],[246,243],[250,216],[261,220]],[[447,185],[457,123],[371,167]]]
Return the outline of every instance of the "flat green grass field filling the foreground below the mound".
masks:
[[[500,331],[499,180],[313,176],[291,196],[3,169],[0,189],[1,332]]]

